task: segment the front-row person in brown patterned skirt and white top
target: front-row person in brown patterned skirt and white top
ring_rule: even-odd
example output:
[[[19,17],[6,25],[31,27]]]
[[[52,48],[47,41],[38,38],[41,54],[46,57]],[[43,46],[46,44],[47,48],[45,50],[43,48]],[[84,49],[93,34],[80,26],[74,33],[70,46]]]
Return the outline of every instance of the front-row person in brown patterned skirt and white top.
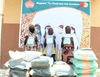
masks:
[[[73,50],[74,50],[74,39],[71,35],[71,27],[65,27],[65,34],[62,37],[61,41],[61,48],[62,48],[62,61],[72,64],[70,62],[70,58],[73,57]]]

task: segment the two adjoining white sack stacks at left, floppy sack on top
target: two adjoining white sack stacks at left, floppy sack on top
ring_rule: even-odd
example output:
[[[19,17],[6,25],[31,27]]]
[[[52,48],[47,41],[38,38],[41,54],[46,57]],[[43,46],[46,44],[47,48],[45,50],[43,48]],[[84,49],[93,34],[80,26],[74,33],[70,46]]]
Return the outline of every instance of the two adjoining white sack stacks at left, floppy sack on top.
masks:
[[[9,77],[29,77],[30,68],[32,75],[51,75],[49,67],[53,64],[53,59],[42,56],[41,52],[9,51],[9,56],[11,59],[5,63],[10,69]]]

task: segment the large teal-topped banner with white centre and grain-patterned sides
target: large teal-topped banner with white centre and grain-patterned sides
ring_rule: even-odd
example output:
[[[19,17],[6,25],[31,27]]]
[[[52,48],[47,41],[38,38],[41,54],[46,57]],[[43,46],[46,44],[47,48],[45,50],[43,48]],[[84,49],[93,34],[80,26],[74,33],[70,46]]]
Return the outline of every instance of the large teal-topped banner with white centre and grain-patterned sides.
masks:
[[[55,34],[59,25],[70,25],[80,47],[90,47],[90,0],[22,0],[21,10],[19,47],[23,47],[29,24],[39,24],[42,35],[47,25]]]

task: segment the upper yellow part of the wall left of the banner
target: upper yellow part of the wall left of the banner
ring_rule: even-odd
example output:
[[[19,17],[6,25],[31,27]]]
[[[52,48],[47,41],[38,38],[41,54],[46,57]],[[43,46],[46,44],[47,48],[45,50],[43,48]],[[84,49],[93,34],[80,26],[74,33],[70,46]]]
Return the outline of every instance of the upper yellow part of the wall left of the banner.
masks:
[[[21,0],[5,0],[4,23],[20,23]]]

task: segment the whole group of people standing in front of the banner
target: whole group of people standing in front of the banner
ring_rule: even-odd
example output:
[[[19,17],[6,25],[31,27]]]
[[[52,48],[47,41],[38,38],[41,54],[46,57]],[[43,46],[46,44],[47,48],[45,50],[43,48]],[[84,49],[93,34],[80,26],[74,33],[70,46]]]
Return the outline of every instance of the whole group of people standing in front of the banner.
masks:
[[[75,28],[70,25],[58,26],[58,32],[47,25],[42,35],[39,24],[29,25],[29,31],[25,35],[24,48],[27,51],[42,51],[45,56],[53,57],[54,61],[58,51],[61,53],[62,61],[69,62],[73,57],[72,52],[76,51],[79,43],[76,37]]]

